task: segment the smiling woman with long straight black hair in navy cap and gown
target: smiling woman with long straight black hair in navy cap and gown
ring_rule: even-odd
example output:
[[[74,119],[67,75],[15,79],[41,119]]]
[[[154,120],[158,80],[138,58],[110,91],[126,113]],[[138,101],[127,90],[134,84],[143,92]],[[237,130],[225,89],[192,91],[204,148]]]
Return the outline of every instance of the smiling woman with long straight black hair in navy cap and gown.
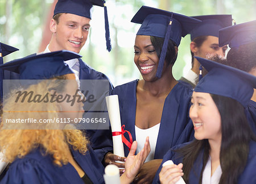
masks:
[[[255,183],[256,137],[245,107],[253,95],[256,77],[196,59],[208,70],[191,99],[189,116],[196,140],[167,152],[163,163],[173,160],[176,165],[161,165],[154,183],[175,183],[181,176],[186,183]]]

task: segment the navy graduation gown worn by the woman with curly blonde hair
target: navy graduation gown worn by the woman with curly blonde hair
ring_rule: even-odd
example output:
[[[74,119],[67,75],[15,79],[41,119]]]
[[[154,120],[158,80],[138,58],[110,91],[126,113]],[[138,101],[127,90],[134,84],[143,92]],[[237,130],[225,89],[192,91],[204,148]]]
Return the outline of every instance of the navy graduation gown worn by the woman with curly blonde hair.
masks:
[[[71,149],[73,158],[93,183],[104,183],[104,167],[92,148],[85,155]],[[24,158],[17,158],[7,170],[0,183],[81,183],[84,184],[71,164],[61,167],[53,165],[52,156],[42,156],[35,149]]]

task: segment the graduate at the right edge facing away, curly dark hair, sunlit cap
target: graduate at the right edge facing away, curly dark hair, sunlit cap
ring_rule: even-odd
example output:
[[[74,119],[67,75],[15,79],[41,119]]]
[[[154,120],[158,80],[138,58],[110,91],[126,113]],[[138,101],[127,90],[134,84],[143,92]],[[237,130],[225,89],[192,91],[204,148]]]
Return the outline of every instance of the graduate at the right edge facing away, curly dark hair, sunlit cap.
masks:
[[[231,48],[226,56],[227,65],[256,76],[256,20],[221,29],[219,43]],[[256,135],[256,89],[245,113]]]

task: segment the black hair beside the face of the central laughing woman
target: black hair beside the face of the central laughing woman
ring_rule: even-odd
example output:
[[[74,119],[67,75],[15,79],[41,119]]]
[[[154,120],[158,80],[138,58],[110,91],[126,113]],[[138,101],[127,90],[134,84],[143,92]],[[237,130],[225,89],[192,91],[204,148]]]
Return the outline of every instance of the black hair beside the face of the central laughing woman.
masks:
[[[158,55],[158,58],[160,58],[163,43],[164,43],[164,38],[163,37],[150,36],[150,40],[151,40],[152,45],[155,47],[155,51]],[[175,52],[175,47],[177,47],[177,45],[174,43],[174,41],[169,40],[168,47],[167,47],[167,52],[166,52],[166,58],[165,58],[168,65],[174,64],[176,59],[177,59],[177,54]]]

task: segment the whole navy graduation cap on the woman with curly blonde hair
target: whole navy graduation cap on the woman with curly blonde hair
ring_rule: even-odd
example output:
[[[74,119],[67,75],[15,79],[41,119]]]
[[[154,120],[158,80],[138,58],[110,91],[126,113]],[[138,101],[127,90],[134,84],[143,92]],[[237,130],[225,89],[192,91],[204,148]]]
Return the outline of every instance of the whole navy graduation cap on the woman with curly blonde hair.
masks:
[[[73,73],[64,61],[79,57],[71,51],[49,52],[6,62],[0,69],[18,73],[20,80],[43,80]]]

